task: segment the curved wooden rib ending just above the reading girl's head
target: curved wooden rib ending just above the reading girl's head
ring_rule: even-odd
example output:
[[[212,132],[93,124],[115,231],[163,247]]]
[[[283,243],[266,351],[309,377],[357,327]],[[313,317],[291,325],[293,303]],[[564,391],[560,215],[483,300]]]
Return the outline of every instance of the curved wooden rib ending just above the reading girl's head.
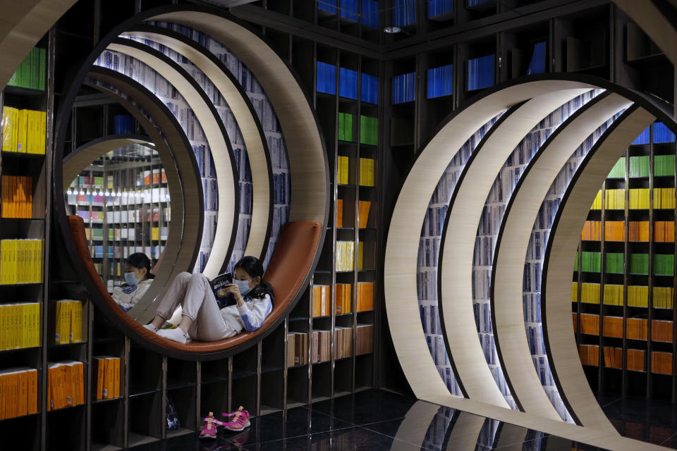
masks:
[[[263,259],[272,229],[273,171],[261,121],[244,89],[219,58],[181,33],[163,27],[139,25],[121,36],[150,39],[176,51],[202,70],[221,93],[240,128],[252,172],[252,218],[245,255],[257,255]]]

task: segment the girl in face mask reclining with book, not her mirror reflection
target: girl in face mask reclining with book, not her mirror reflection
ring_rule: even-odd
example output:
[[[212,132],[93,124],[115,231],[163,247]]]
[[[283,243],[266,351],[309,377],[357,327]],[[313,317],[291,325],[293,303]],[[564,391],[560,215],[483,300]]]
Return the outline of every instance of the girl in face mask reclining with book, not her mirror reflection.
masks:
[[[263,266],[256,257],[243,257],[233,270],[234,283],[221,286],[236,305],[219,309],[209,279],[202,274],[181,273],[159,302],[155,317],[144,327],[161,337],[185,344],[186,340],[216,341],[241,330],[257,330],[273,309],[273,289],[262,280]],[[176,329],[160,329],[181,305]]]

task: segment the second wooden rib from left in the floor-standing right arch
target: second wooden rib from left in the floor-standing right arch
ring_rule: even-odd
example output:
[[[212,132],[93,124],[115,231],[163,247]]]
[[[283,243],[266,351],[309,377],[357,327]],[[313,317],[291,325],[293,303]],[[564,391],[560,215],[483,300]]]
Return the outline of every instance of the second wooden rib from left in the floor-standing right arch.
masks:
[[[438,299],[449,355],[470,399],[508,407],[487,366],[472,305],[472,257],[484,203],[506,159],[525,135],[554,109],[590,89],[589,85],[554,89],[504,115],[475,149],[454,189],[439,246]],[[547,417],[559,418],[554,409]]]

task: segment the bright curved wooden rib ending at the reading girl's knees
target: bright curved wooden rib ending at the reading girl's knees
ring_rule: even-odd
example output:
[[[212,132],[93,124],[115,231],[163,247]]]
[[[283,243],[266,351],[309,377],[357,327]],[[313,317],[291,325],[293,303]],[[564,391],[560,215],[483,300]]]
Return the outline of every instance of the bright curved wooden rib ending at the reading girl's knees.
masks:
[[[202,273],[207,278],[214,278],[221,273],[221,268],[228,263],[228,258],[233,252],[240,211],[236,163],[231,142],[227,139],[228,134],[221,123],[219,113],[216,112],[214,104],[209,101],[200,85],[197,85],[197,82],[181,66],[161,52],[131,39],[116,39],[109,44],[108,49],[133,56],[166,78],[188,102],[188,106],[200,122],[202,131],[205,132],[207,143],[212,149],[214,168],[216,168],[219,212],[216,216],[216,233],[214,233],[212,251],[209,252],[207,264]]]

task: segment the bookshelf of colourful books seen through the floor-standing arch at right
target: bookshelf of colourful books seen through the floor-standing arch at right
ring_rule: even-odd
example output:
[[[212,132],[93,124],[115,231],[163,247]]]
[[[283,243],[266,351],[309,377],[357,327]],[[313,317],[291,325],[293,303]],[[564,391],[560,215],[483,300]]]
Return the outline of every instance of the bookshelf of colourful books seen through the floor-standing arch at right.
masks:
[[[675,153],[662,123],[642,132],[607,176],[581,236],[573,320],[585,372],[602,391],[675,397]]]

